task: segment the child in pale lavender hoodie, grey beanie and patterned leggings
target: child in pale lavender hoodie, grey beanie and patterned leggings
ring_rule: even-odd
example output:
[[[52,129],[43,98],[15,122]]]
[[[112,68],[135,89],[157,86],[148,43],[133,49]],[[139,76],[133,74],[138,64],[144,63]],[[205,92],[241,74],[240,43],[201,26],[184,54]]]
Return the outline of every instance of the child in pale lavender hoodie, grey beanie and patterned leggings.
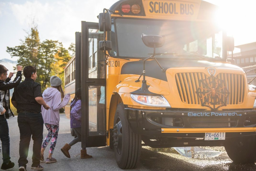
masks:
[[[59,130],[59,121],[60,121],[60,112],[59,110],[63,108],[70,100],[70,94],[67,94],[64,97],[63,90],[61,88],[61,79],[57,76],[52,76],[50,78],[50,83],[52,88],[47,88],[43,93],[44,101],[51,107],[51,110],[46,110],[42,107],[42,115],[44,119],[44,125],[48,130],[48,134],[44,139],[42,148],[41,148],[41,161],[44,161],[44,150],[47,144],[51,141],[51,146],[49,150],[49,157],[46,159],[46,163],[57,162],[55,158],[52,157],[53,150],[55,148],[58,130]],[[61,102],[61,99],[62,102]]]

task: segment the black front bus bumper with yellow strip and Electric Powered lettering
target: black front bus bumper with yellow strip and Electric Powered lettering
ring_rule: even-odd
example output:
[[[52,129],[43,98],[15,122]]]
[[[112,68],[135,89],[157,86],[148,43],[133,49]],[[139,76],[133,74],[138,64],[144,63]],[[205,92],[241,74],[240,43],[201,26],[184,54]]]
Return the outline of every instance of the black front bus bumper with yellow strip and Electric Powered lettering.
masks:
[[[226,132],[227,138],[256,134],[255,110],[208,113],[125,108],[129,126],[135,134],[183,138],[204,138],[205,133],[214,132]],[[208,124],[217,126],[213,128]]]

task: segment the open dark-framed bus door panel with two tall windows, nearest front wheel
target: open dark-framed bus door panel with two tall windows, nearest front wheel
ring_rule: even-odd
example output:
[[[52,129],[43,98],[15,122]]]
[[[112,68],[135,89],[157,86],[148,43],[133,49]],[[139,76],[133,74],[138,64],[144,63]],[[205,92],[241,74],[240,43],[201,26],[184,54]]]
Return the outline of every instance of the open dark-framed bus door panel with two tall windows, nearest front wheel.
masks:
[[[98,23],[81,23],[82,148],[106,145],[105,54]]]

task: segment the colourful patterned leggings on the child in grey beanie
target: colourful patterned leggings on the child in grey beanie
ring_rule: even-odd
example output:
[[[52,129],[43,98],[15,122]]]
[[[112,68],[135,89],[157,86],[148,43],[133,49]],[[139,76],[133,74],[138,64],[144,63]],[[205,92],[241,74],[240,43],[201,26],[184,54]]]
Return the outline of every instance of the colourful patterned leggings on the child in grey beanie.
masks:
[[[48,123],[45,123],[44,125],[46,126],[49,133],[47,134],[47,136],[44,139],[42,148],[45,149],[47,144],[50,142],[50,140],[52,138],[49,153],[53,153],[53,150],[55,148],[57,138],[58,138],[59,125],[51,125],[51,124],[48,124]]]

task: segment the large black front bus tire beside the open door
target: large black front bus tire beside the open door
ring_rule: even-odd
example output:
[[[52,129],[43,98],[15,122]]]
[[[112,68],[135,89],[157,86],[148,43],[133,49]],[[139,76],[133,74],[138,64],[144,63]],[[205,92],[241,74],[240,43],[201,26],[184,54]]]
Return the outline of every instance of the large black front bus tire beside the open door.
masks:
[[[125,117],[125,106],[116,107],[113,129],[113,143],[119,168],[135,168],[140,162],[141,135],[134,134]]]

